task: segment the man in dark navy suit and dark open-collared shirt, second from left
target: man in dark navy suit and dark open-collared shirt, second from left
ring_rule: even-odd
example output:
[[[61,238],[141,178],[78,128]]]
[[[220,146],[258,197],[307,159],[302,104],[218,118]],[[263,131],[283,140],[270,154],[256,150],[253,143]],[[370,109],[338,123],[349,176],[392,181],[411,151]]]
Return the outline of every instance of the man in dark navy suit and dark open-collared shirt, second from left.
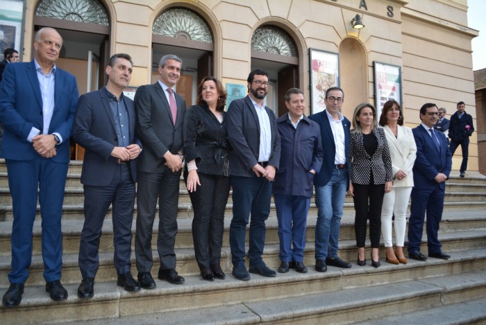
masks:
[[[106,67],[108,83],[101,90],[79,98],[73,138],[85,148],[81,183],[84,185],[85,222],[79,245],[79,268],[83,281],[78,297],[91,298],[99,266],[99,238],[108,207],[112,204],[113,243],[117,285],[140,290],[130,272],[133,203],[137,166],[142,151],[135,138],[133,100],[124,96],[133,70],[130,55],[112,55]]]

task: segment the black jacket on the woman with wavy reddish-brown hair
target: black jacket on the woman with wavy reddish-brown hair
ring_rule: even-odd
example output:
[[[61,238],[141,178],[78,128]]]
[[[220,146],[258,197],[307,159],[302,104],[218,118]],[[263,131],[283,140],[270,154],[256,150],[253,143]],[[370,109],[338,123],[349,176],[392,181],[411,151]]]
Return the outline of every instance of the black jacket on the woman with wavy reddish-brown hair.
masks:
[[[194,105],[187,109],[184,121],[184,155],[187,162],[196,159],[197,169],[210,175],[228,174],[228,131],[226,112],[219,123],[208,105]]]

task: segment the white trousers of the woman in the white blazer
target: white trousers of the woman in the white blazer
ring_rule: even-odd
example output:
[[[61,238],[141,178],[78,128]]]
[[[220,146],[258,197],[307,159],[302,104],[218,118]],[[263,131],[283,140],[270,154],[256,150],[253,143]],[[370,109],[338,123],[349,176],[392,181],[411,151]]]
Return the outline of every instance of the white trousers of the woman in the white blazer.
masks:
[[[383,197],[381,208],[381,233],[385,247],[392,247],[392,216],[395,215],[396,246],[403,247],[407,227],[407,207],[412,187],[394,187]]]

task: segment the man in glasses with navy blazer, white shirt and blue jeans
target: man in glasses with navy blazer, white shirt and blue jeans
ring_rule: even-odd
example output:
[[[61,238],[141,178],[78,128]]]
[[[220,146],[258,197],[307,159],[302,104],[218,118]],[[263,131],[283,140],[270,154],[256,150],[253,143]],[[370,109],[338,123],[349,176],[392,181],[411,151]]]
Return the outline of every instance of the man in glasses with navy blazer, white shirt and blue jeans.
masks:
[[[319,174],[314,177],[317,223],[315,231],[315,270],[326,272],[327,265],[351,267],[337,256],[342,208],[349,187],[349,127],[351,123],[341,114],[344,91],[330,87],[326,91],[326,109],[309,118],[321,129],[324,159]]]

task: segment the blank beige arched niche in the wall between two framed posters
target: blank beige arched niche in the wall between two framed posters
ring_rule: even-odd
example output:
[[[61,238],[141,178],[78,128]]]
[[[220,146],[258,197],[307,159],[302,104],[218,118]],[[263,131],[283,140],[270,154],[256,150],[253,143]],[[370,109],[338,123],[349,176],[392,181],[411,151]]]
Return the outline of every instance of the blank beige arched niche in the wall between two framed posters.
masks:
[[[358,39],[346,37],[342,40],[340,73],[344,91],[342,114],[349,118],[359,103],[369,101],[366,53]]]

